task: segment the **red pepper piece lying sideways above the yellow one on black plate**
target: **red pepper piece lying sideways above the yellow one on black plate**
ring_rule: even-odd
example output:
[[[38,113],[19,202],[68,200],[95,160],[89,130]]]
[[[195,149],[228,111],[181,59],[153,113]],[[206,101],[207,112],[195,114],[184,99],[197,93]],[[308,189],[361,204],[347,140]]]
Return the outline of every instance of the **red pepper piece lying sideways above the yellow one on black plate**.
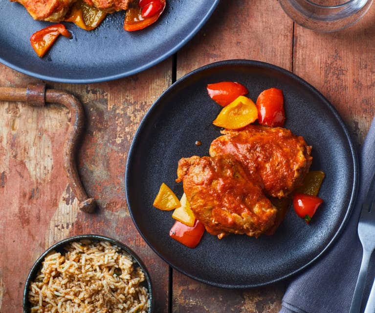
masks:
[[[208,96],[221,106],[226,106],[236,100],[239,96],[248,94],[248,90],[240,83],[222,81],[207,85]]]

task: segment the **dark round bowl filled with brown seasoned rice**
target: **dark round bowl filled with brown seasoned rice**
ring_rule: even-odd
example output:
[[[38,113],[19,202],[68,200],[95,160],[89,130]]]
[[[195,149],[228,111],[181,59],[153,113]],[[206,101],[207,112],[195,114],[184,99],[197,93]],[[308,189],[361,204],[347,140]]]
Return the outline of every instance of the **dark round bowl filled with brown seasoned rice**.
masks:
[[[32,266],[23,313],[151,313],[150,275],[123,243],[101,235],[57,242]]]

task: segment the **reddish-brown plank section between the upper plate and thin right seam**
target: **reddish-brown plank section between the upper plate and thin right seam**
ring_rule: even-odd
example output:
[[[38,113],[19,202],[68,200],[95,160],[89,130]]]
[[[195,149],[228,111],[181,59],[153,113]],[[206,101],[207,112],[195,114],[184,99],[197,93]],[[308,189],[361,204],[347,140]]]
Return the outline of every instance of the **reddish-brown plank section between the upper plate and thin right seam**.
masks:
[[[177,52],[177,78],[229,59],[269,62],[291,71],[293,23],[276,0],[221,1],[208,23]]]

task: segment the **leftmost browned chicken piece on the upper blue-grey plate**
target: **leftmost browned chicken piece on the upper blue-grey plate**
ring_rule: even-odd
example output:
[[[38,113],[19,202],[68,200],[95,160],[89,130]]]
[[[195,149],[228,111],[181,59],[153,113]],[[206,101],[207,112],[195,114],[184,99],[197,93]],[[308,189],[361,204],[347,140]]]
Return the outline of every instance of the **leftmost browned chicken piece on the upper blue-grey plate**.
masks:
[[[64,21],[70,6],[76,0],[11,0],[21,3],[34,20]]]

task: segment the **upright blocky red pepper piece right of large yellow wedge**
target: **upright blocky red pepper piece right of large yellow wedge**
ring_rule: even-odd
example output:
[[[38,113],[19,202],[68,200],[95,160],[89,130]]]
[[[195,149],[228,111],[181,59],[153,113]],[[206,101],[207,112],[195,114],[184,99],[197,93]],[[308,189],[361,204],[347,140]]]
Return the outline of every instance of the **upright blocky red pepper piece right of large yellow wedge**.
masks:
[[[270,88],[263,91],[257,99],[258,121],[265,126],[284,126],[284,96],[283,91]]]

